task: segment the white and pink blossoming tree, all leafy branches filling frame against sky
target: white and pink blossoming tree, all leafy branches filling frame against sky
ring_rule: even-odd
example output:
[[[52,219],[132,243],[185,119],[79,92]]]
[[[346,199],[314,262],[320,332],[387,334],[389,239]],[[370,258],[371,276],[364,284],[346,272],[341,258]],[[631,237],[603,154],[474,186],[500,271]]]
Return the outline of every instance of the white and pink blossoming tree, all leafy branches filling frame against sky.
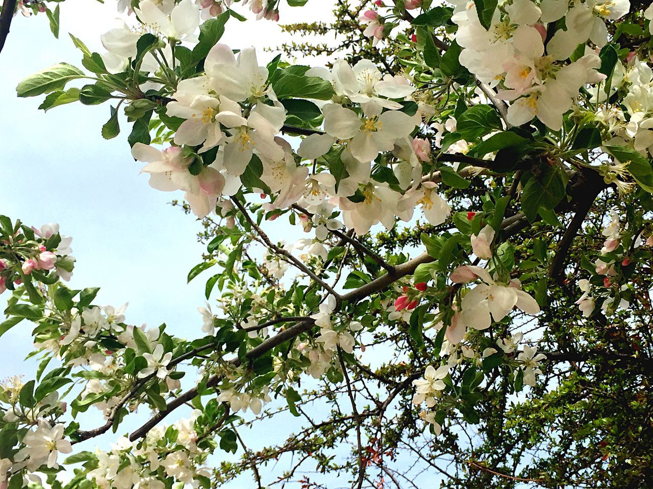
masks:
[[[195,339],[134,327],[65,284],[58,226],[0,216],[0,334],[33,321],[43,357],[0,394],[3,487],[650,486],[651,7],[338,1],[285,27],[336,33],[282,47],[327,69],[221,44],[243,3],[123,3],[138,33],[73,37],[84,70],[18,96],[115,104],[106,139],[124,112],[150,185],[202,220],[188,280],[212,269],[217,299]],[[270,422],[287,439],[242,436]]]

